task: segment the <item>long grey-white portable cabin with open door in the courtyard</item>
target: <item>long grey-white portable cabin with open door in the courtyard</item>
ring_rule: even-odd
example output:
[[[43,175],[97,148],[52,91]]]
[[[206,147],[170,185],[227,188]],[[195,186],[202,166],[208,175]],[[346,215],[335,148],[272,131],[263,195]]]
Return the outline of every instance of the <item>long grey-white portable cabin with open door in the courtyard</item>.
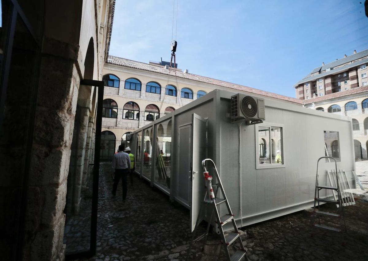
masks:
[[[264,99],[265,120],[232,123],[234,94],[214,90],[131,135],[136,171],[190,209],[192,230],[205,193],[205,158],[216,163],[239,227],[312,207],[317,160],[326,153],[337,158],[355,188],[349,117],[251,95]],[[319,165],[319,182],[329,185],[326,170],[335,165],[325,159]],[[227,214],[222,205],[220,216]]]

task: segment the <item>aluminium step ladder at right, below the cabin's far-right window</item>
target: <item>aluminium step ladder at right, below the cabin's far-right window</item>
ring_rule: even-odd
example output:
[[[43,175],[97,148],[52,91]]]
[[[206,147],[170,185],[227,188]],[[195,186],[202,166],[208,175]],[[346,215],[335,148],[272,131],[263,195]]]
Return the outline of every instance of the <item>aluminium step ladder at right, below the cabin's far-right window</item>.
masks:
[[[320,186],[319,185],[319,182],[318,182],[318,164],[319,164],[319,161],[321,159],[328,159],[329,162],[330,162],[330,159],[333,159],[333,161],[335,161],[336,187],[334,187],[334,186]],[[322,190],[322,189],[337,191],[336,200],[330,200],[330,199],[327,199],[327,198],[320,198],[319,197],[319,191]],[[320,202],[339,205],[339,209],[337,210],[338,213],[336,214],[336,213],[321,211],[319,209]],[[333,218],[338,218],[339,223],[340,223],[340,228],[334,228],[334,227],[331,227],[331,226],[321,224],[320,216],[330,216],[330,217],[333,217]],[[316,218],[318,219],[318,223],[315,223]],[[315,186],[315,192],[314,192],[314,213],[312,215],[312,225],[317,227],[317,228],[333,230],[333,231],[336,231],[336,232],[346,231],[346,224],[345,224],[345,218],[344,218],[344,208],[343,208],[343,204],[342,204],[342,195],[341,195],[340,186],[339,186],[339,175],[338,175],[338,172],[337,172],[337,162],[336,162],[335,158],[332,158],[332,157],[329,157],[329,156],[321,157],[317,161],[316,186]],[[312,233],[311,236],[313,236],[313,233]],[[343,234],[342,234],[342,236],[343,236]],[[344,243],[342,243],[342,244],[344,244]]]

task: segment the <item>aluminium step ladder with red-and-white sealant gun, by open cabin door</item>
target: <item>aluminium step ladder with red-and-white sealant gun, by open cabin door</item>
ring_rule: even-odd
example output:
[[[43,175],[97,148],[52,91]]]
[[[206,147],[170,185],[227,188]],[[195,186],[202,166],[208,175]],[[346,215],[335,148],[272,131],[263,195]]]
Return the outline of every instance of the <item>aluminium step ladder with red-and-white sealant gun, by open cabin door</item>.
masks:
[[[216,187],[215,192],[213,192],[213,190],[212,190],[212,184],[211,184],[212,176],[209,176],[208,171],[206,170],[206,166],[205,166],[206,161],[212,162],[213,169],[215,170],[215,175],[216,175],[216,180],[217,180],[217,184],[215,186],[213,186],[213,187]],[[215,222],[217,223],[217,225],[219,227],[219,230],[220,230],[221,243],[225,248],[225,253],[226,253],[226,256],[227,256],[227,260],[229,260],[229,261],[240,261],[244,257],[245,257],[245,260],[248,260],[247,255],[246,255],[247,251],[245,250],[244,245],[243,245],[243,241],[241,240],[240,232],[239,232],[239,230],[236,226],[234,215],[233,215],[233,212],[231,211],[231,208],[230,208],[230,205],[229,205],[229,201],[227,201],[226,194],[225,194],[224,188],[222,186],[219,173],[217,172],[215,162],[213,162],[212,159],[204,159],[202,161],[202,168],[204,170],[204,176],[205,176],[205,179],[206,179],[206,193],[205,193],[204,200],[202,202],[201,211],[199,212],[197,222],[195,223],[195,228],[194,228],[194,231],[192,233],[192,241],[191,241],[190,246],[188,248],[187,260],[188,260],[190,250],[192,248],[193,243],[198,242],[198,241],[200,241],[201,239],[204,238],[204,244],[206,244],[207,239],[208,239],[209,228],[210,228],[210,225],[211,225],[211,222],[212,222],[212,217],[213,217],[214,213],[215,213],[215,218],[216,218]],[[217,198],[217,193],[219,192],[219,189],[222,192],[223,198]],[[223,204],[223,203],[226,204],[228,214],[220,217],[220,214],[219,214],[219,211],[218,211],[217,208],[220,204]],[[211,213],[210,219],[208,221],[207,230],[204,234],[202,234],[201,236],[194,239],[194,237],[196,235],[196,232],[197,232],[198,225],[201,221],[202,213],[205,210],[205,204],[212,205],[212,213]],[[227,236],[225,236],[224,231],[223,231],[223,226],[228,222],[233,223],[234,231],[230,232]],[[228,247],[236,241],[238,241],[238,243],[240,244],[240,248],[233,255],[230,256]]]

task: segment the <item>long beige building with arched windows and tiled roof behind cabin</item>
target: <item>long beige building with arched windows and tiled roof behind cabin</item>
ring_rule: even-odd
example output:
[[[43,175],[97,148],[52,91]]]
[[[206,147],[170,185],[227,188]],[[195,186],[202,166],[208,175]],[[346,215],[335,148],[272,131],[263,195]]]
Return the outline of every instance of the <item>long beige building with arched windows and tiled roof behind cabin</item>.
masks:
[[[125,142],[127,133],[151,123],[156,116],[162,117],[214,89],[263,95],[302,105],[302,101],[295,98],[191,74],[188,70],[172,68],[169,78],[169,69],[158,63],[147,64],[115,56],[107,58],[103,75],[104,106],[107,107],[102,119],[101,159],[106,161],[109,161],[117,151],[118,145],[129,146],[129,143]],[[152,92],[153,85],[155,93]],[[168,85],[169,88],[173,87],[173,90],[166,88]],[[175,91],[176,94],[171,91]],[[134,108],[131,106],[132,103]],[[129,114],[134,117],[129,117]]]

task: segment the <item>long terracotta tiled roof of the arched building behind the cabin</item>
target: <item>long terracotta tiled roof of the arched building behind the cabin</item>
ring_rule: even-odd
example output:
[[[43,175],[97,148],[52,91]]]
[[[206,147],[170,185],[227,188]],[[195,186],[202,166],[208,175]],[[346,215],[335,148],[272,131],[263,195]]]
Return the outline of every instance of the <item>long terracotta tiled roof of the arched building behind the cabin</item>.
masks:
[[[165,69],[164,67],[155,66],[155,65],[147,64],[147,63],[141,63],[139,61],[128,60],[125,58],[120,58],[120,57],[111,56],[111,55],[107,57],[106,63],[169,75],[169,70]],[[170,75],[175,76],[175,73],[173,70],[170,71]],[[288,97],[288,96],[284,96],[280,94],[274,94],[272,92],[266,92],[266,91],[262,91],[259,89],[255,89],[255,88],[251,88],[251,87],[247,87],[247,86],[243,86],[239,84],[233,84],[231,82],[220,81],[220,80],[216,80],[213,78],[204,77],[201,75],[196,75],[192,73],[183,73],[182,71],[179,71],[179,70],[176,71],[176,75],[177,77],[183,78],[183,79],[188,79],[188,80],[193,80],[193,81],[198,81],[198,82],[205,82],[208,84],[213,84],[213,85],[217,85],[221,87],[249,92],[251,94],[257,94],[257,95],[276,98],[280,100],[286,100],[288,102],[303,104],[303,101],[300,99],[296,99],[296,98],[292,98],[292,97]]]

